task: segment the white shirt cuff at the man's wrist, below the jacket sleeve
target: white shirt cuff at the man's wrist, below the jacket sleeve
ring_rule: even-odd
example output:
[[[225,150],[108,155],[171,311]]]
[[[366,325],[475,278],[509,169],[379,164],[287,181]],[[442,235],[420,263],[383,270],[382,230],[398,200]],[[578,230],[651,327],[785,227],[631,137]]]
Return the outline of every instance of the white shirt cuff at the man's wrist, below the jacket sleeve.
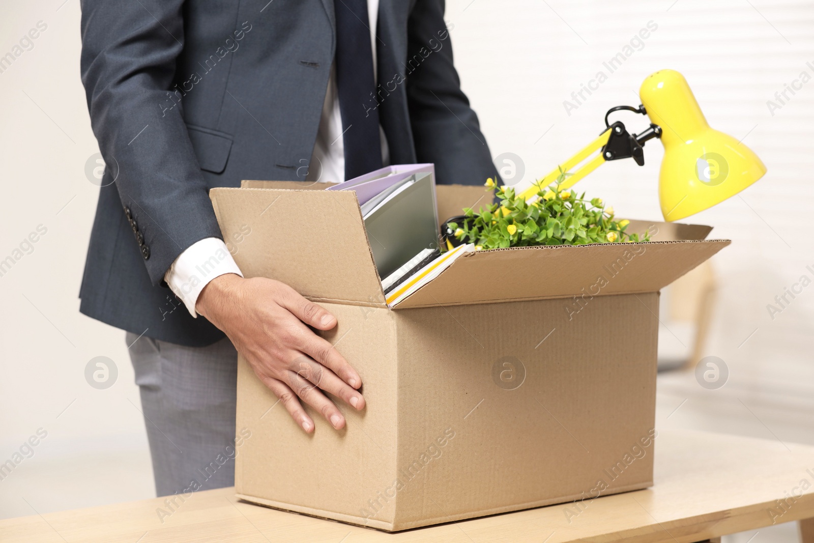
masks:
[[[229,249],[222,239],[205,238],[195,242],[182,252],[164,274],[164,281],[186,305],[190,315],[198,317],[195,303],[208,282],[223,274],[238,274],[240,268],[234,263]]]

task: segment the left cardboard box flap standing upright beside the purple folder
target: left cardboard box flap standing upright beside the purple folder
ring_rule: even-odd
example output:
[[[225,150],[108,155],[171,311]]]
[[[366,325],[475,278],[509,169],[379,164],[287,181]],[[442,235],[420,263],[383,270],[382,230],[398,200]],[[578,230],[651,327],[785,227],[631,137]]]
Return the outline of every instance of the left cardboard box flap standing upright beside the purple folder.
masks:
[[[244,182],[256,184],[289,188],[209,191],[223,238],[245,277],[277,279],[312,300],[384,305],[355,192]],[[317,189],[325,186],[318,183]]]

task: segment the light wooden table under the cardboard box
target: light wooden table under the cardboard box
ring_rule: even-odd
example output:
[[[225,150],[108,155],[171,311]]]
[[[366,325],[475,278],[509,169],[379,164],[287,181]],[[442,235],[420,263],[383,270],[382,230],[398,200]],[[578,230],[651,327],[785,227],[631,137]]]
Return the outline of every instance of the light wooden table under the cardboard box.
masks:
[[[193,494],[163,523],[156,510],[166,505],[156,498],[2,520],[0,541],[689,543],[797,520],[804,543],[814,542],[814,447],[666,430],[655,446],[653,488],[579,508],[540,507],[391,534],[254,506],[221,488]]]

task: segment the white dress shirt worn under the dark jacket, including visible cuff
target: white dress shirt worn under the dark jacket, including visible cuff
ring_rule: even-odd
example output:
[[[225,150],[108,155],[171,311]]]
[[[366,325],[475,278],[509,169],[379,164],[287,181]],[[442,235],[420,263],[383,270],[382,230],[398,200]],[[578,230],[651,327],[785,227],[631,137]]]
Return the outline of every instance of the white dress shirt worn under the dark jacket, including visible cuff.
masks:
[[[373,52],[373,73],[376,78],[376,36],[375,28],[379,20],[379,0],[367,0],[367,13],[370,22],[370,46]],[[379,125],[382,141],[382,164],[389,164],[387,139]],[[322,117],[319,120],[317,141],[309,163],[306,180],[312,182],[343,182],[345,180],[345,155],[342,139],[342,114],[339,112],[339,94],[336,90],[335,69],[330,68],[325,102],[322,104]],[[233,241],[233,249],[239,242]],[[221,239],[206,238],[193,243],[182,252],[164,274],[164,281],[180,298],[193,317],[198,296],[208,282],[223,274],[238,274],[243,277],[229,248]]]

